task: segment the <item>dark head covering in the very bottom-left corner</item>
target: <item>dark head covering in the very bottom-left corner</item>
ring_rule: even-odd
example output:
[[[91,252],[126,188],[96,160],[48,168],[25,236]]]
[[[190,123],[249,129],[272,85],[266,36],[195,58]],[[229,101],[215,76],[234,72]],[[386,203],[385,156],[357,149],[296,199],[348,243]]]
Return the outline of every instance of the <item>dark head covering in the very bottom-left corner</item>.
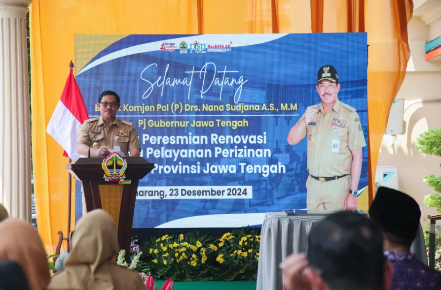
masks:
[[[28,280],[25,272],[16,261],[0,262],[0,289],[1,290],[28,290]]]

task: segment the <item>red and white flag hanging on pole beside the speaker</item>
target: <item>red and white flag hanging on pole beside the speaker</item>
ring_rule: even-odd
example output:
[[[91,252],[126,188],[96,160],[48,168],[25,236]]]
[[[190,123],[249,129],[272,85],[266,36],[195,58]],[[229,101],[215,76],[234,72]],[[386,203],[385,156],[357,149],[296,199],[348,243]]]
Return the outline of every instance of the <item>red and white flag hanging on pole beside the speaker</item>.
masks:
[[[85,120],[89,119],[86,105],[76,84],[72,68],[46,132],[65,150],[64,156],[72,160],[81,157],[76,150],[76,137]]]

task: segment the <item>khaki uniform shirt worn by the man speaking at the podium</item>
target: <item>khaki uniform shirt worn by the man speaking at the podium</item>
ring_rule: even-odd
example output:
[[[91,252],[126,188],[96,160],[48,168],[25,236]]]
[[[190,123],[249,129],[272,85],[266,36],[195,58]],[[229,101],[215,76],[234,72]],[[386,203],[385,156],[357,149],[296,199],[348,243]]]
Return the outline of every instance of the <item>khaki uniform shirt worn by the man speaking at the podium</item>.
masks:
[[[95,133],[103,129],[104,126],[106,126],[106,124],[103,122],[103,117],[84,121],[79,130],[76,142],[89,142]],[[138,134],[133,123],[119,120],[118,118],[115,118],[110,126],[102,130],[101,133],[96,135],[92,142],[90,142],[90,147],[92,148],[98,149],[100,146],[109,146],[110,149],[114,149],[114,146],[119,146],[125,155],[129,155],[129,151],[133,148],[141,149]]]

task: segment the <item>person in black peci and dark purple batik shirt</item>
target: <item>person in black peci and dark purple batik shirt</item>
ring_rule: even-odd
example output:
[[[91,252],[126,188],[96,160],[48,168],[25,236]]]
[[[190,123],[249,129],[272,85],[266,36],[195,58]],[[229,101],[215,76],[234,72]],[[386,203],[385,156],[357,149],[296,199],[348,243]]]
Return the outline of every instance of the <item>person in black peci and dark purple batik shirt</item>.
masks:
[[[410,253],[420,225],[418,203],[405,193],[380,187],[369,216],[383,231],[384,255],[393,265],[390,290],[440,290],[441,273]]]

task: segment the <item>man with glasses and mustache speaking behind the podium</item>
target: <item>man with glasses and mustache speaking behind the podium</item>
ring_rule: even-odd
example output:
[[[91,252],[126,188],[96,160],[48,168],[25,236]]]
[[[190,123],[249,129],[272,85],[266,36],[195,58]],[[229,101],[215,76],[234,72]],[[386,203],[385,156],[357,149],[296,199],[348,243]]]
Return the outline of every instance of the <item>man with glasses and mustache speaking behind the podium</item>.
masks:
[[[141,144],[132,122],[115,117],[120,107],[118,94],[104,91],[98,98],[101,117],[84,121],[76,139],[76,148],[82,156],[107,157],[109,149],[119,146],[125,156],[139,157]],[[92,148],[90,148],[90,147]],[[81,188],[82,192],[82,188]],[[84,193],[82,194],[83,214],[86,211]]]

